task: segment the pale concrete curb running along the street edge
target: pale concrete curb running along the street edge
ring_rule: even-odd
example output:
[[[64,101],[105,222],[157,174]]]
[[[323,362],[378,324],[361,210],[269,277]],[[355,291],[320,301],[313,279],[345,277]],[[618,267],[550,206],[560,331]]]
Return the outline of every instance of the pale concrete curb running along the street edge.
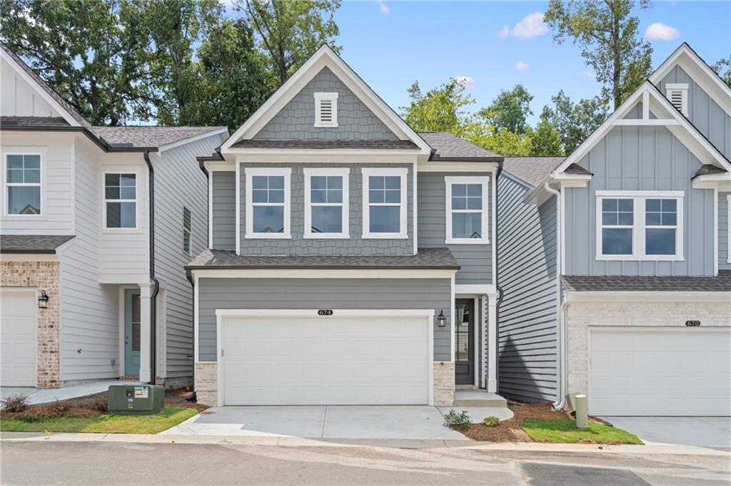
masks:
[[[0,432],[1,442],[104,442],[137,444],[214,444],[279,447],[387,447],[395,449],[466,449],[482,451],[594,452],[626,455],[708,455],[731,457],[731,452],[679,444],[599,445],[542,444],[538,442],[484,443],[442,439],[306,439],[281,436],[172,436],[137,433]]]

